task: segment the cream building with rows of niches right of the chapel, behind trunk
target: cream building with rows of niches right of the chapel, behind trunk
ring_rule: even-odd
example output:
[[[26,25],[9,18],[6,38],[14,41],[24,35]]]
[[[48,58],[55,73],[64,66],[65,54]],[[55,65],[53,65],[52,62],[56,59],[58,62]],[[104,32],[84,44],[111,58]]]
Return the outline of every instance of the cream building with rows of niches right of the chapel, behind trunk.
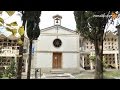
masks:
[[[88,40],[81,37],[80,42],[80,58],[81,65],[85,69],[93,69],[94,64],[90,61],[89,56],[95,54],[94,44]],[[105,33],[105,38],[103,41],[103,56],[106,68],[119,68],[118,63],[118,35],[108,31]]]

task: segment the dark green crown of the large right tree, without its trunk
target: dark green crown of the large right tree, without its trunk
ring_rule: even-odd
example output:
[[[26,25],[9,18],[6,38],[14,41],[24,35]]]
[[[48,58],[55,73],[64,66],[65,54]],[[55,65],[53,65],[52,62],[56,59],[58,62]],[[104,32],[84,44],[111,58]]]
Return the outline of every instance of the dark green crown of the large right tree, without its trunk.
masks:
[[[74,11],[77,30],[81,36],[94,42],[102,37],[107,22],[106,17],[95,15],[107,15],[108,11]]]

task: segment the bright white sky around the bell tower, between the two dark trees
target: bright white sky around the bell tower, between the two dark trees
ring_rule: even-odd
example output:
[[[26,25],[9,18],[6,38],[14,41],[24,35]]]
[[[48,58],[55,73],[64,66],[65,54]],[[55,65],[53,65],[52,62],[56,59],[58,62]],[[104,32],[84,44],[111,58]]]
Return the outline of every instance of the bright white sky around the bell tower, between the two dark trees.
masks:
[[[75,30],[76,29],[76,22],[74,19],[73,11],[42,11],[41,13],[41,22],[40,22],[40,28],[46,28],[54,25],[54,15],[60,15],[62,16],[61,19],[61,25]]]

